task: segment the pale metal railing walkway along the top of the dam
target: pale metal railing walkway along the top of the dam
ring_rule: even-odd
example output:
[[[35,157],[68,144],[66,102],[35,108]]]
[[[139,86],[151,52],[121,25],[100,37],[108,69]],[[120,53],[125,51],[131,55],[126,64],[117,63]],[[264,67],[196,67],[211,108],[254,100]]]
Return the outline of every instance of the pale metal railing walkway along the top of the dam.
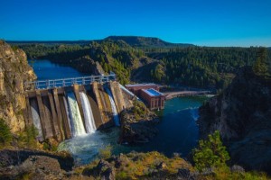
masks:
[[[99,83],[105,83],[110,80],[116,80],[116,75],[113,72],[110,72],[109,75],[104,76],[79,76],[71,78],[62,78],[62,79],[51,79],[51,80],[40,80],[25,82],[23,84],[24,91],[33,91],[36,89],[52,89],[56,87],[65,87],[71,85],[89,85],[90,83],[97,81]]]

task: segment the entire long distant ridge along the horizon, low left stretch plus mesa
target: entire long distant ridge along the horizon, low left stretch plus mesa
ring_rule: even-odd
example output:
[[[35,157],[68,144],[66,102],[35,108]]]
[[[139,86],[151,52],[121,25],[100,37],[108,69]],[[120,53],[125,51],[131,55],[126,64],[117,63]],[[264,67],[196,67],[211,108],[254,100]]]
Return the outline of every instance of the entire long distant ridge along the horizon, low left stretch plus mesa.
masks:
[[[142,36],[108,36],[103,40],[6,40],[11,44],[89,44],[92,41],[125,41],[128,45],[138,48],[170,48],[170,47],[191,47],[189,43],[172,43],[153,37]]]

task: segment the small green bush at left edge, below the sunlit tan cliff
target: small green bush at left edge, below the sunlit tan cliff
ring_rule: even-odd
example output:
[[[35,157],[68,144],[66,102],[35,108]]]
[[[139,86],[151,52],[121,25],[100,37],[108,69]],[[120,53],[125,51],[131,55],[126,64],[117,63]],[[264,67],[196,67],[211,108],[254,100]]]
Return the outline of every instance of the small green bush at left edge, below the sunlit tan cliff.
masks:
[[[3,119],[0,119],[0,148],[10,145],[13,135]]]

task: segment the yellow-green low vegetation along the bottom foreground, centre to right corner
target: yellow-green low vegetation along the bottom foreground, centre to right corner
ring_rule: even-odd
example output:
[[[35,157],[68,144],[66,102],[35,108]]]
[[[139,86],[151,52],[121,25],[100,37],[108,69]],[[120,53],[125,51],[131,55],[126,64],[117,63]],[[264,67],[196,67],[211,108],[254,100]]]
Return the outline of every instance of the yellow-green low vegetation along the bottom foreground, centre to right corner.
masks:
[[[117,160],[116,160],[117,159]],[[92,161],[88,166],[75,169],[79,174],[89,175],[90,179],[99,179],[98,171],[99,160]],[[178,179],[179,169],[185,169],[192,175],[192,179],[202,180],[228,180],[228,179],[261,179],[266,180],[268,176],[264,173],[232,171],[229,166],[218,166],[213,171],[204,171],[200,174],[196,169],[182,157],[165,157],[159,152],[137,153],[130,152],[126,155],[121,154],[117,157],[107,158],[109,166],[114,167],[116,179]],[[107,171],[105,167],[103,171]],[[189,176],[186,176],[188,178]],[[180,178],[180,177],[179,177]]]

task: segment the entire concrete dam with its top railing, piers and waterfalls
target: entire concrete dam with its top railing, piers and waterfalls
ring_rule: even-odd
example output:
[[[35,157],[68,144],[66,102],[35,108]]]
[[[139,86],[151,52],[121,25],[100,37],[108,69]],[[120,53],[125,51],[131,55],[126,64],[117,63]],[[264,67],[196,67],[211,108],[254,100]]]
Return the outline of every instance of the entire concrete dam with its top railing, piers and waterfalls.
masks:
[[[38,139],[70,139],[119,126],[118,114],[135,98],[115,75],[36,81],[24,84],[25,124]]]

